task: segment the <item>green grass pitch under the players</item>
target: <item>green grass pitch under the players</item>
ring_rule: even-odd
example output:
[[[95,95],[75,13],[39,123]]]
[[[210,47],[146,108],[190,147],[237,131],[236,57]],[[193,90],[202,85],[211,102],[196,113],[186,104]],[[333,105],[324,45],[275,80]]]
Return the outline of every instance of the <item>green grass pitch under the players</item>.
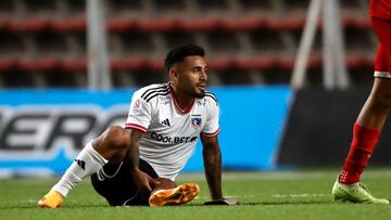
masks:
[[[178,182],[194,181],[200,195],[179,207],[110,207],[85,180],[60,209],[40,209],[39,199],[56,179],[0,180],[0,219],[390,219],[391,206],[335,202],[330,191],[337,170],[225,172],[224,194],[242,200],[239,206],[203,206],[209,190],[202,173],[182,174]],[[363,182],[377,196],[391,198],[391,171],[367,170]]]

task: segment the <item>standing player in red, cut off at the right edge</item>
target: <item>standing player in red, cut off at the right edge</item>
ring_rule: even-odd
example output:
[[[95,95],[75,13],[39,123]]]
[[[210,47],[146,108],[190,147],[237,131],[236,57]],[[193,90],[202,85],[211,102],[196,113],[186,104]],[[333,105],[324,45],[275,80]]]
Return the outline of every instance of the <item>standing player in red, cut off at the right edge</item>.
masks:
[[[380,40],[376,55],[375,82],[353,128],[353,141],[341,173],[332,187],[337,199],[365,204],[390,204],[374,197],[360,177],[378,143],[391,109],[391,1],[370,0],[371,25]]]

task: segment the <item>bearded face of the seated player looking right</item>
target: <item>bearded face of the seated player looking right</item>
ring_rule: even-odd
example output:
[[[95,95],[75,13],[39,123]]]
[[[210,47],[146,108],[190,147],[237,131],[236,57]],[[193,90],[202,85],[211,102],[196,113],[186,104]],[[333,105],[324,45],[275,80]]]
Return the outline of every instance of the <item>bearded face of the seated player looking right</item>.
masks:
[[[187,56],[180,64],[178,87],[189,96],[203,98],[207,81],[205,60],[199,55]]]

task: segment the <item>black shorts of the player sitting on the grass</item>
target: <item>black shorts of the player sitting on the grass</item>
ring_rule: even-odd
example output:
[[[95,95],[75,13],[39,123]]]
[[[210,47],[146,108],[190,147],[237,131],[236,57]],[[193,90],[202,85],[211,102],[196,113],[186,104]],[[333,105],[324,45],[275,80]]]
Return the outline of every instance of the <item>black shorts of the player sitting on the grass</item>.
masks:
[[[140,196],[138,187],[130,178],[130,164],[105,165],[103,169],[91,176],[93,189],[103,196],[111,206],[143,206],[148,205],[146,196]],[[151,178],[157,173],[146,160],[139,160],[139,169]]]

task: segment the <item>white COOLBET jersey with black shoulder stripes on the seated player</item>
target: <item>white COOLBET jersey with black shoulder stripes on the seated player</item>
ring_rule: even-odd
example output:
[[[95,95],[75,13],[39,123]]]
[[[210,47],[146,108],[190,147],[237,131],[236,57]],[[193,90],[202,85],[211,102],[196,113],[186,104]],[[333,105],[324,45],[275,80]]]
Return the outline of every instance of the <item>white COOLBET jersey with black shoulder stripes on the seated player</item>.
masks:
[[[206,92],[181,109],[169,83],[151,85],[131,98],[125,128],[144,132],[140,140],[140,158],[148,161],[159,177],[175,180],[192,155],[200,133],[217,135],[219,108],[214,94]]]

